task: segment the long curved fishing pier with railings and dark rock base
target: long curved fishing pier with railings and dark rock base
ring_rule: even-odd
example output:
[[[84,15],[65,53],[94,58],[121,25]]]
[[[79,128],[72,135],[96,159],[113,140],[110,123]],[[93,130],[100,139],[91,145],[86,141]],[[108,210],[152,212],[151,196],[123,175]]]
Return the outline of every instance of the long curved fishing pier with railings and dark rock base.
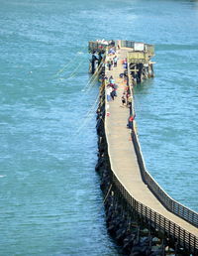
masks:
[[[198,255],[197,212],[159,187],[146,169],[139,143],[134,86],[154,76],[153,46],[90,42],[89,52],[90,71],[101,79],[96,171],[109,232],[129,255]],[[116,95],[108,97],[111,76]]]

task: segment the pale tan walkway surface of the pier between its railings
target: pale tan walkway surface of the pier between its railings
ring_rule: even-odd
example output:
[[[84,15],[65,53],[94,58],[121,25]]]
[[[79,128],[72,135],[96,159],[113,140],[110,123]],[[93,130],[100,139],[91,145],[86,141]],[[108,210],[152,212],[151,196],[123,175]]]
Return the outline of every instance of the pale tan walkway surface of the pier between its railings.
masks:
[[[127,128],[127,122],[130,110],[122,106],[121,97],[126,83],[120,78],[120,73],[124,72],[122,61],[127,58],[127,49],[119,50],[117,67],[107,70],[106,76],[113,75],[115,83],[118,84],[117,94],[114,101],[107,102],[106,111],[109,115],[105,118],[105,132],[108,144],[108,153],[111,169],[125,189],[138,201],[142,202],[157,213],[163,215],[170,221],[179,225],[186,231],[198,236],[198,228],[168,211],[149,191],[148,186],[143,182],[136,152],[131,139],[130,129]],[[107,56],[106,61],[112,59]]]

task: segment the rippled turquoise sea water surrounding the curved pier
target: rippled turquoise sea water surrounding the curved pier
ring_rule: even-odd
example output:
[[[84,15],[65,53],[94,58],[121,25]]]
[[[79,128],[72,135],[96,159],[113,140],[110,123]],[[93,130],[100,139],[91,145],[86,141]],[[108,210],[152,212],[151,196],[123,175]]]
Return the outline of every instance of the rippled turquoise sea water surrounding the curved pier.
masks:
[[[90,40],[155,45],[156,76],[136,88],[142,150],[162,188],[197,210],[198,2],[0,2],[0,255],[119,254],[94,171]]]

